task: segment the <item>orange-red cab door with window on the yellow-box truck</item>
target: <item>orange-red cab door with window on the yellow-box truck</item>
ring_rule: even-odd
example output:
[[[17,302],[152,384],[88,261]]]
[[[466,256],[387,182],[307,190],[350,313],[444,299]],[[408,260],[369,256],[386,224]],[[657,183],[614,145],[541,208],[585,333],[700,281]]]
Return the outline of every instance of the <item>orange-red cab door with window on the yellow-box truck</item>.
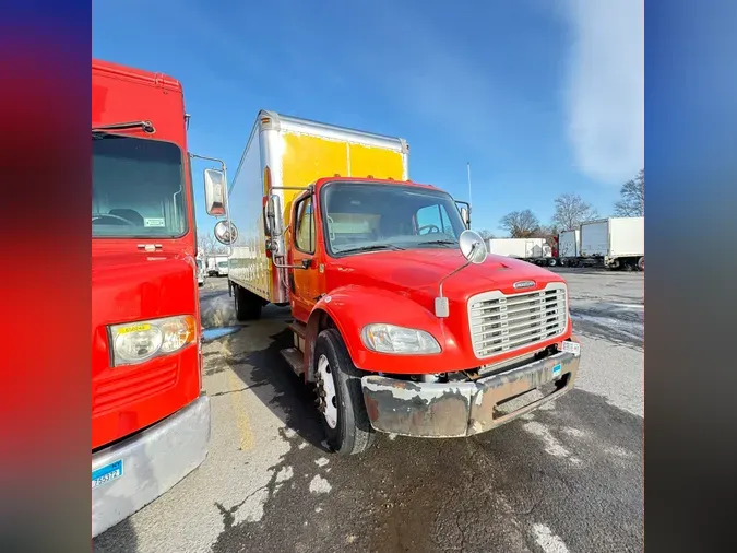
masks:
[[[292,212],[289,296],[292,314],[297,320],[307,321],[320,295],[319,261],[316,256],[314,197],[305,195],[294,202]]]

